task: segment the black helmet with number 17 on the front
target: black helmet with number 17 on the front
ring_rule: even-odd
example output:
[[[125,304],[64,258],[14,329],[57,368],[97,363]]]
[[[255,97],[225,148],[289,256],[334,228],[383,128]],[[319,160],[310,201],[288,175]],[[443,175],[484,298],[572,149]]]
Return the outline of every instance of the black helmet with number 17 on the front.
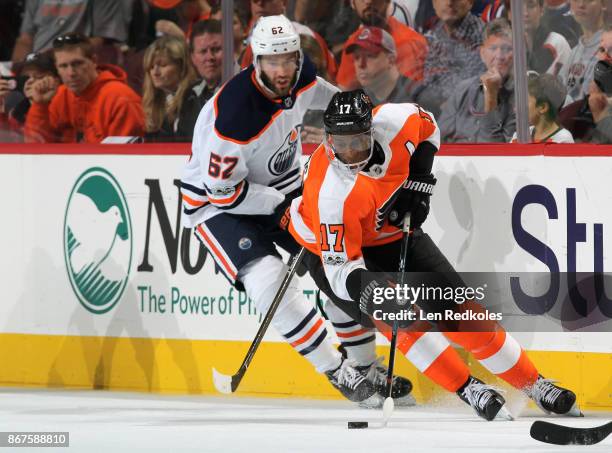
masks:
[[[369,131],[372,108],[372,101],[361,89],[334,94],[323,115],[325,132],[343,135]]]

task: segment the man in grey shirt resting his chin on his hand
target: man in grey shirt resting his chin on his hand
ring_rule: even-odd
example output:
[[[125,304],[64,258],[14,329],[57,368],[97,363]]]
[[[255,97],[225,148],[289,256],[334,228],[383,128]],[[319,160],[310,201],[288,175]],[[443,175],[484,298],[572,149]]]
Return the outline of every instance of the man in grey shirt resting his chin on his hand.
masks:
[[[442,107],[443,142],[508,142],[515,131],[512,30],[506,19],[487,24],[480,57],[486,72],[460,82]]]

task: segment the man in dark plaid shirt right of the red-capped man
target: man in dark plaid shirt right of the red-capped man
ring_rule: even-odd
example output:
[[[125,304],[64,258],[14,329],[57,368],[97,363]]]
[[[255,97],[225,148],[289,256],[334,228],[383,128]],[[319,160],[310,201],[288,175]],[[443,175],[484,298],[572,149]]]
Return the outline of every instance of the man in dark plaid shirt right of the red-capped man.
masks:
[[[436,117],[463,80],[482,74],[480,46],[484,23],[470,13],[473,0],[433,0],[440,21],[427,36],[424,89],[419,103]]]

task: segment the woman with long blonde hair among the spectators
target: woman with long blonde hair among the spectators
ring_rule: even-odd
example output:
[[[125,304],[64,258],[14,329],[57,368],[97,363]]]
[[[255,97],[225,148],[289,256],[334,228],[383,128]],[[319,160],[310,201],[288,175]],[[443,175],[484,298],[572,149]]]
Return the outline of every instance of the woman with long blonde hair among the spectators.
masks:
[[[185,41],[174,36],[155,40],[145,52],[144,68],[145,140],[191,141],[201,102],[192,89],[197,76]]]

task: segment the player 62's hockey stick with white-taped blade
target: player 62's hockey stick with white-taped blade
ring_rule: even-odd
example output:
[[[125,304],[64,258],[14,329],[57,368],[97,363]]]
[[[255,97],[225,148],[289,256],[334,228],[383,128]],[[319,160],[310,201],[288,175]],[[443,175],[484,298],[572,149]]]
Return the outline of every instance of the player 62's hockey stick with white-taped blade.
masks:
[[[261,340],[263,340],[263,337],[266,334],[266,330],[268,330],[268,326],[272,322],[274,313],[276,313],[276,309],[280,305],[281,300],[283,300],[283,296],[287,292],[289,283],[291,283],[291,279],[293,278],[293,275],[295,274],[295,271],[297,270],[298,266],[302,262],[302,259],[304,258],[305,254],[306,250],[302,247],[297,256],[293,258],[293,263],[289,267],[287,274],[285,274],[285,278],[283,278],[283,281],[281,282],[281,285],[278,288],[276,296],[274,297],[272,304],[270,304],[270,308],[268,308],[268,312],[266,313],[266,316],[261,322],[261,326],[259,326],[259,329],[255,334],[255,339],[251,343],[251,346],[247,351],[246,357],[242,361],[242,365],[240,365],[238,371],[232,376],[228,376],[227,374],[219,373],[215,368],[213,368],[213,384],[219,392],[231,394],[234,393],[240,385],[240,381],[242,381],[242,378],[244,377],[244,374],[246,373],[249,364],[251,363],[251,360],[253,360],[255,352],[261,344]]]

